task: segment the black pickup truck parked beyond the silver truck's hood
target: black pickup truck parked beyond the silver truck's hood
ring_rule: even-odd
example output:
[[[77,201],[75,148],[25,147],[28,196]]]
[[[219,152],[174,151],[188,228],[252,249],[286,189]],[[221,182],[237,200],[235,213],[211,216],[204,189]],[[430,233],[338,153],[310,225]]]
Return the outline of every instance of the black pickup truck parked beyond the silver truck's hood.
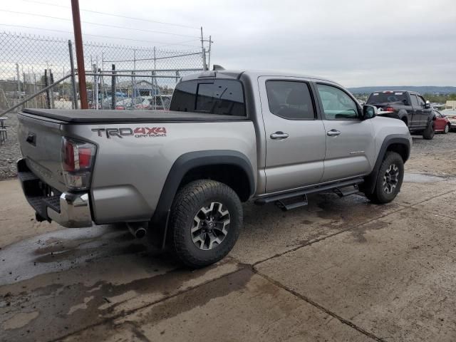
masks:
[[[375,91],[369,95],[368,105],[375,105],[381,116],[403,120],[410,133],[423,134],[423,138],[434,138],[435,114],[430,102],[413,91]]]

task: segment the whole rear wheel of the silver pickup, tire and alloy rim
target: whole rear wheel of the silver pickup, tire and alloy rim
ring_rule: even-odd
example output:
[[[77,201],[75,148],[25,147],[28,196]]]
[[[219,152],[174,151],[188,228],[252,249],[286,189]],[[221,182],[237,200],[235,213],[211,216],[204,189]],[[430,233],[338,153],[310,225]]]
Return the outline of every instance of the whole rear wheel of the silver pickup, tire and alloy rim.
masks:
[[[190,182],[172,204],[172,249],[177,259],[192,268],[223,259],[234,247],[241,227],[241,201],[221,182]]]

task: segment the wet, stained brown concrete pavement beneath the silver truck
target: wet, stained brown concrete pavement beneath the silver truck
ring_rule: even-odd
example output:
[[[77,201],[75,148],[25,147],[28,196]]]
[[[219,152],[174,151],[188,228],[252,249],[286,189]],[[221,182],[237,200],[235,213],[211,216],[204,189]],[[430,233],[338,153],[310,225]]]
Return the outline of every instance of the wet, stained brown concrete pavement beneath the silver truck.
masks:
[[[197,271],[121,225],[36,223],[0,182],[0,341],[455,341],[456,172],[426,158],[384,206],[245,204],[229,257]]]

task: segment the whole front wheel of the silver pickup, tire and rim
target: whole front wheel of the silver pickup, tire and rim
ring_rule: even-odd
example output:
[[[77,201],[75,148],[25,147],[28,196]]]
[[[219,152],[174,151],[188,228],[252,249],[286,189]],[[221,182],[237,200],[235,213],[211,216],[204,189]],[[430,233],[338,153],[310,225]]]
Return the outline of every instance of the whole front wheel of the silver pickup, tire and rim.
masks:
[[[385,204],[391,202],[400,192],[404,179],[404,161],[396,152],[386,152],[378,170],[372,194],[366,194],[371,202]]]

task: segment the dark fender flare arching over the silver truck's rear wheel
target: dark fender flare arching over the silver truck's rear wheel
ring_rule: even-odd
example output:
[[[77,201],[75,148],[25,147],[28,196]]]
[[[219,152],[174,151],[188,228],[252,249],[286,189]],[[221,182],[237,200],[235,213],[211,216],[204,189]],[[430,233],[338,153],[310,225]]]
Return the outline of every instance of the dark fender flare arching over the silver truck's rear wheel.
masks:
[[[168,172],[165,184],[162,187],[157,207],[152,216],[152,224],[166,224],[167,215],[172,201],[177,193],[180,182],[187,172],[195,167],[209,165],[235,165],[241,168],[249,180],[249,196],[255,192],[254,171],[252,165],[241,152],[234,150],[206,150],[187,152],[175,160]]]

